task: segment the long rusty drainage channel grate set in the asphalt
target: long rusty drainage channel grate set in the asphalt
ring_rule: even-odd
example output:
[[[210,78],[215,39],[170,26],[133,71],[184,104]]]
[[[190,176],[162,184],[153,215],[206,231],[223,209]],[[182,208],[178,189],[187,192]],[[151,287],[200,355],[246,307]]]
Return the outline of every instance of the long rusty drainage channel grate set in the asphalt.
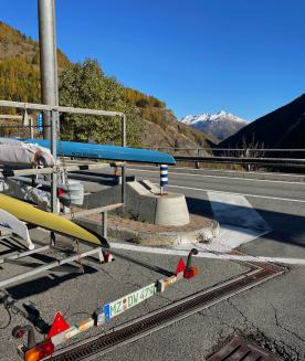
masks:
[[[112,332],[93,337],[72,344],[66,349],[59,350],[46,360],[96,360],[97,357],[112,351],[118,346],[143,338],[284,273],[282,268],[271,264],[250,263],[250,265],[254,266],[254,270],[252,269],[232,280],[222,283],[208,290],[199,291],[159,310],[132,320],[115,328]]]

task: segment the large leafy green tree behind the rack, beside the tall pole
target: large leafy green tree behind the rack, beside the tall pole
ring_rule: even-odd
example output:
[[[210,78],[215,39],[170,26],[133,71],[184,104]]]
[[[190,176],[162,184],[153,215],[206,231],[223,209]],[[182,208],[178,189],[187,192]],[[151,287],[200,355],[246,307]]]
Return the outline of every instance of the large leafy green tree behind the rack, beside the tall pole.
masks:
[[[127,116],[127,145],[140,146],[135,107],[126,103],[124,87],[104,75],[95,60],[70,64],[60,76],[60,104],[78,108],[123,112]],[[120,118],[63,114],[62,139],[120,144]]]

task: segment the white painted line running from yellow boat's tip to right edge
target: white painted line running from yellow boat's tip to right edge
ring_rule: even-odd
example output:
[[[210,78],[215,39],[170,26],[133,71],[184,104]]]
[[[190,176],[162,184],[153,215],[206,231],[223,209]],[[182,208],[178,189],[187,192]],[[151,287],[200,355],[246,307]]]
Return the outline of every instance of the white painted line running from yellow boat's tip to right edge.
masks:
[[[133,244],[125,243],[109,243],[111,247],[116,249],[125,249],[140,253],[151,253],[159,254],[165,256],[188,256],[189,251],[182,249],[169,249],[169,248],[159,248],[159,247],[144,247]],[[192,244],[190,248],[193,248]],[[305,266],[305,259],[302,258],[282,258],[282,257],[265,257],[265,256],[240,256],[240,255],[230,255],[230,254],[213,254],[209,252],[198,252],[198,255],[194,257],[199,258],[210,258],[210,259],[223,259],[223,261],[241,261],[241,262],[262,262],[262,263],[280,263],[287,265],[302,265]]]

